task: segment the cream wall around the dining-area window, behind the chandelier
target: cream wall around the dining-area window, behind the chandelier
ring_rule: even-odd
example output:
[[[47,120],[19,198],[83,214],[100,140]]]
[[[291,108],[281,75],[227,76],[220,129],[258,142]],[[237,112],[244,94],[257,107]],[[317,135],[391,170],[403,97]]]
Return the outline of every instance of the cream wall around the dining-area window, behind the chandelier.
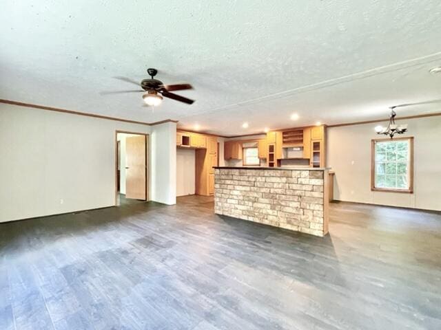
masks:
[[[441,210],[441,116],[397,122],[409,124],[402,136],[414,137],[413,194],[371,191],[371,139],[381,136],[373,131],[377,124],[361,124],[327,129],[335,199]]]

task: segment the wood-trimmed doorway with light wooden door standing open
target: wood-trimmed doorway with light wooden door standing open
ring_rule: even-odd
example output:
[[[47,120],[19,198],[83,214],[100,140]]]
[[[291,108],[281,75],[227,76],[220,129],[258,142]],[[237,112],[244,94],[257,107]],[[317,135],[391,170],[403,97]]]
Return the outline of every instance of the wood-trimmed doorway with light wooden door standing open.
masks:
[[[116,131],[116,206],[127,203],[142,203],[149,200],[149,142],[148,134]]]

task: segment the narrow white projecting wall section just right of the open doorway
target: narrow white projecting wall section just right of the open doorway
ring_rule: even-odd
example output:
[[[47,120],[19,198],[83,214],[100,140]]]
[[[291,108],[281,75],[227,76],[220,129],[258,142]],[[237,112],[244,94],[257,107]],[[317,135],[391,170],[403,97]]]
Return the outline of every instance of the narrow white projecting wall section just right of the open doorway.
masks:
[[[152,126],[152,200],[176,203],[176,123]]]

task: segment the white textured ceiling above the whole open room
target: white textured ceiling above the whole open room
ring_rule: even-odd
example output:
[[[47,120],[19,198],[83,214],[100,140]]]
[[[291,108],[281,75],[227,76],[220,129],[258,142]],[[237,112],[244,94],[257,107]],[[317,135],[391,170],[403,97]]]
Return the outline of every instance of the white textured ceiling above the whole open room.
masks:
[[[3,0],[0,98],[222,135],[387,118],[441,98],[440,17],[439,0]],[[99,94],[136,89],[114,77],[147,67],[196,102]]]

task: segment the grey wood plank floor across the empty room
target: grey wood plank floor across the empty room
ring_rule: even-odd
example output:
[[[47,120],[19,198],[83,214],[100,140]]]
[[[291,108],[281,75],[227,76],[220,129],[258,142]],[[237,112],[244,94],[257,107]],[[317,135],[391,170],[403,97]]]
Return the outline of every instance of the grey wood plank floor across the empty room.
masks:
[[[330,212],[324,239],[209,197],[0,224],[0,329],[441,329],[441,215]]]

